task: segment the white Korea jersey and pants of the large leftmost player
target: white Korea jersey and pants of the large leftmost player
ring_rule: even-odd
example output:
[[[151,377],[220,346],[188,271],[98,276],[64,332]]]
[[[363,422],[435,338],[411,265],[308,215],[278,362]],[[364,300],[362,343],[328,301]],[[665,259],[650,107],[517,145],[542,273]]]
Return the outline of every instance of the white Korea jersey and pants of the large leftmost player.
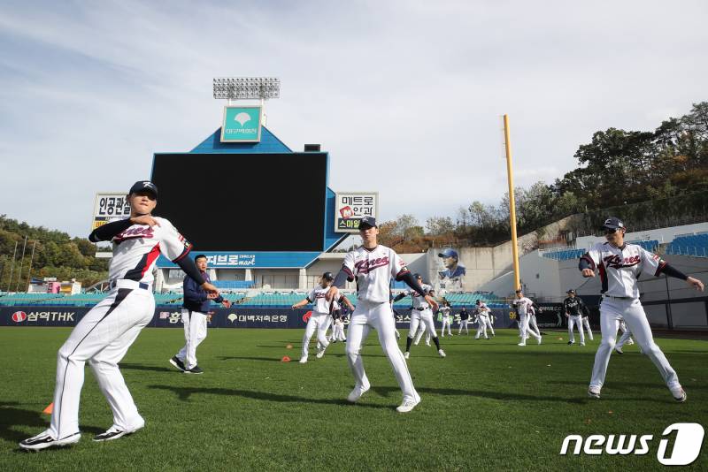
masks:
[[[130,431],[144,424],[118,363],[155,313],[152,270],[158,256],[176,262],[191,248],[169,221],[155,219],[159,225],[132,225],[113,237],[108,269],[111,291],[81,318],[59,349],[49,430],[52,438],[79,432],[79,400],[87,361],[111,406],[113,427]]]

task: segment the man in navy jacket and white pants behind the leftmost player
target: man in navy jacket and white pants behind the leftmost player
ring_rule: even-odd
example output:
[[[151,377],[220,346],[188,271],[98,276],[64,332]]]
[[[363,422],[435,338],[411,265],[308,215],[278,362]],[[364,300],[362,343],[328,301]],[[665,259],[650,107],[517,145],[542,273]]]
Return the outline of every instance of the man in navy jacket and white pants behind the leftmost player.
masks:
[[[211,283],[206,273],[206,255],[196,255],[194,263],[202,278]],[[182,305],[182,324],[184,324],[184,339],[186,344],[180,352],[170,359],[170,363],[186,374],[202,374],[204,370],[196,364],[196,346],[206,339],[206,316],[209,313],[211,301],[221,303],[225,308],[231,307],[231,302],[220,295],[206,293],[199,282],[189,276],[182,282],[184,304]]]

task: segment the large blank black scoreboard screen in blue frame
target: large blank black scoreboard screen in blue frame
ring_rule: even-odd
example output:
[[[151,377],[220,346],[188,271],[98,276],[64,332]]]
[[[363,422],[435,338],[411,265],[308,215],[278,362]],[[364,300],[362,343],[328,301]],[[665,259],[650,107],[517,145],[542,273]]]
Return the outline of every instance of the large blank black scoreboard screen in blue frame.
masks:
[[[327,154],[156,154],[165,217],[197,251],[322,251]]]

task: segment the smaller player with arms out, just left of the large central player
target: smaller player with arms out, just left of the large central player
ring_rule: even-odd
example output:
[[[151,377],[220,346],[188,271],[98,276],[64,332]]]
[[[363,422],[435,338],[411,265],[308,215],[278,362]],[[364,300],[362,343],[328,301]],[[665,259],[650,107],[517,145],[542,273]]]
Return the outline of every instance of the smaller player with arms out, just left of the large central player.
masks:
[[[313,288],[312,291],[301,301],[298,301],[292,306],[293,309],[304,307],[308,303],[314,303],[314,309],[312,310],[312,315],[310,319],[307,320],[307,326],[304,329],[303,336],[303,351],[300,355],[300,363],[304,364],[307,362],[308,350],[310,348],[310,339],[312,335],[317,331],[317,341],[318,350],[317,358],[321,359],[325,355],[325,350],[329,346],[329,341],[327,340],[327,328],[329,327],[331,316],[329,315],[330,308],[335,301],[344,301],[353,309],[350,301],[347,300],[345,296],[337,297],[337,300],[333,299],[327,301],[327,293],[331,290],[332,281],[335,276],[332,272],[325,272],[322,277],[319,278],[319,287]]]

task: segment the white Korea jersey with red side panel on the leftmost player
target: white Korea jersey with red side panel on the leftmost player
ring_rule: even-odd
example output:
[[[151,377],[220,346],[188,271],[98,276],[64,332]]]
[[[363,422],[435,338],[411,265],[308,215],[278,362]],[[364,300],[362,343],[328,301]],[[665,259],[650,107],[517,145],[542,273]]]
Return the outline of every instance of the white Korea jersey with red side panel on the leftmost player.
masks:
[[[112,239],[113,259],[108,278],[127,278],[151,284],[152,270],[160,254],[173,263],[189,254],[192,245],[165,218],[155,217],[159,225],[132,225]]]

